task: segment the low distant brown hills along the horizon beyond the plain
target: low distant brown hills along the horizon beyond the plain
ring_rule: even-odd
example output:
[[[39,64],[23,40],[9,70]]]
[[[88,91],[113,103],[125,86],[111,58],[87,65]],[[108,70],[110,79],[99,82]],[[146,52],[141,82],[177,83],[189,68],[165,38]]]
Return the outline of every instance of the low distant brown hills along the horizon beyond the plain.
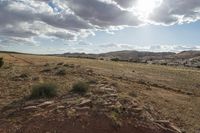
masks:
[[[173,53],[126,50],[101,54],[64,53],[59,56],[200,68],[200,51]]]

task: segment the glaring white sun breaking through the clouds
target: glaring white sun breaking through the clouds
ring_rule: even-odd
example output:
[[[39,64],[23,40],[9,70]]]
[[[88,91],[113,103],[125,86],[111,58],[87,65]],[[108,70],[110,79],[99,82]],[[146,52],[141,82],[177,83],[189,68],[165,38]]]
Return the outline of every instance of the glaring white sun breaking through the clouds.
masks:
[[[138,0],[135,10],[139,16],[147,18],[161,2],[162,0]]]

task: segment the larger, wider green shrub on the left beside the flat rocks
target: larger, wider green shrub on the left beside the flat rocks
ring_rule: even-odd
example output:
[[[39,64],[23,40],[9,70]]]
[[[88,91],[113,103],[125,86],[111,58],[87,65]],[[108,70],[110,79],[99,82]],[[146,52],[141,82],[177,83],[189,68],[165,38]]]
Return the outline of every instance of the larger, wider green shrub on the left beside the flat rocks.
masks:
[[[34,85],[31,91],[31,99],[51,98],[57,95],[57,86],[51,83]]]

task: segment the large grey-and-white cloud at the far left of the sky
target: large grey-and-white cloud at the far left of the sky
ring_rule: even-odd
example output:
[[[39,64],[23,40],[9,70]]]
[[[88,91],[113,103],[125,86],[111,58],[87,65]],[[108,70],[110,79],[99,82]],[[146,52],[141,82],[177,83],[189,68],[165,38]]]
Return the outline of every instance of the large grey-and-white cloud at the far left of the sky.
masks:
[[[50,35],[74,40],[91,28],[89,23],[68,10],[55,12],[47,1],[0,1],[0,36],[30,38]]]

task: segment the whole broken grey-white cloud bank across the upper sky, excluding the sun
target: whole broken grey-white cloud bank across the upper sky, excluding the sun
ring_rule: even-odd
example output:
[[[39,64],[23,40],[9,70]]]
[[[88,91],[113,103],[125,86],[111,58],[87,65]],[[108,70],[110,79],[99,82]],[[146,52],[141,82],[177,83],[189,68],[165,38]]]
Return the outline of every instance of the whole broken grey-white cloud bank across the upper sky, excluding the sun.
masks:
[[[35,37],[75,41],[98,30],[113,33],[147,23],[172,25],[200,19],[199,0],[161,0],[147,20],[134,10],[138,1],[0,0],[0,37],[12,41]]]

